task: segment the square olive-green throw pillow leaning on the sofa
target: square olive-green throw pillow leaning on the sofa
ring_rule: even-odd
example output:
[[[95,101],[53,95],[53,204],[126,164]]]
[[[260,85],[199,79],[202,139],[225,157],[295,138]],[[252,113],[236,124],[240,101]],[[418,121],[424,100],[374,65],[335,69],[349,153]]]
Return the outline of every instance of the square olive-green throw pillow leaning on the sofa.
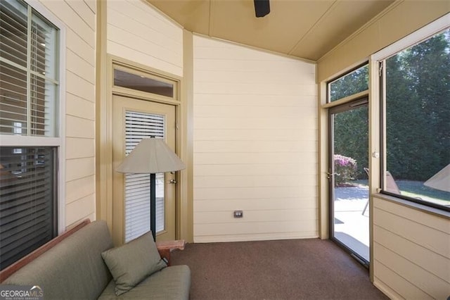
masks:
[[[104,251],[101,256],[113,275],[117,296],[167,266],[150,231],[127,244]]]

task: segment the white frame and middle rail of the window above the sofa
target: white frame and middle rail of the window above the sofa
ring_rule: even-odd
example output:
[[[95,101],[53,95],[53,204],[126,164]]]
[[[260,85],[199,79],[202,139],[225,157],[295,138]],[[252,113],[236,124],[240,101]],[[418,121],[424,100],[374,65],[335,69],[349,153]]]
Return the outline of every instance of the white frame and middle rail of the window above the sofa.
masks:
[[[56,18],[48,8],[41,4],[37,0],[18,0],[22,1],[25,5],[30,6],[34,12],[42,18],[45,18],[50,23],[52,23],[59,30],[59,38],[56,40],[57,45],[57,56],[56,63],[58,63],[58,68],[56,68],[59,73],[59,89],[58,95],[58,106],[56,115],[58,115],[58,130],[56,130],[56,137],[39,137],[39,136],[22,136],[22,135],[1,135],[0,134],[0,144],[1,146],[55,146],[57,148],[56,155],[58,156],[56,165],[56,180],[58,185],[56,204],[57,215],[56,222],[58,223],[57,234],[60,235],[65,231],[65,53],[66,53],[66,26],[65,24]]]

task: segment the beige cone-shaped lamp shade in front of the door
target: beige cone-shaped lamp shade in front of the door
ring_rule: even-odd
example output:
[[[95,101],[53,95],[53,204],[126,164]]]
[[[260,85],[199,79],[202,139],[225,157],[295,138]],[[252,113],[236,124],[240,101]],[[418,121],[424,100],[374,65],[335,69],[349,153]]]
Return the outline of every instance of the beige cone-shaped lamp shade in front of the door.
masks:
[[[183,170],[186,165],[163,139],[146,138],[117,167],[120,173],[165,173]]]

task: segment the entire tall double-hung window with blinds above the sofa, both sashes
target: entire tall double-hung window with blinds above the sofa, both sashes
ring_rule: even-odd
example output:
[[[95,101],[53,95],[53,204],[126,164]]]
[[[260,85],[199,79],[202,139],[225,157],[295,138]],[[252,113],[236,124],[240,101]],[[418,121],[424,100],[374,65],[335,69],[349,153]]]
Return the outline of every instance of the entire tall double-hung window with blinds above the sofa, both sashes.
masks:
[[[59,47],[58,27],[0,0],[1,269],[58,234]]]

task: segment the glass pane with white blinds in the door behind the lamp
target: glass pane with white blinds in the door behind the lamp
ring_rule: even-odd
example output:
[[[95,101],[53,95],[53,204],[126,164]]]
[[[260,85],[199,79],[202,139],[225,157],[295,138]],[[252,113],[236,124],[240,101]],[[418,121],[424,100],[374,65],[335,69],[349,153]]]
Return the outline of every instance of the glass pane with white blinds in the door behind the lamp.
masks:
[[[144,137],[165,137],[165,116],[127,111],[125,155]],[[125,175],[125,242],[150,230],[150,174]],[[156,174],[156,232],[165,229],[165,174]]]

